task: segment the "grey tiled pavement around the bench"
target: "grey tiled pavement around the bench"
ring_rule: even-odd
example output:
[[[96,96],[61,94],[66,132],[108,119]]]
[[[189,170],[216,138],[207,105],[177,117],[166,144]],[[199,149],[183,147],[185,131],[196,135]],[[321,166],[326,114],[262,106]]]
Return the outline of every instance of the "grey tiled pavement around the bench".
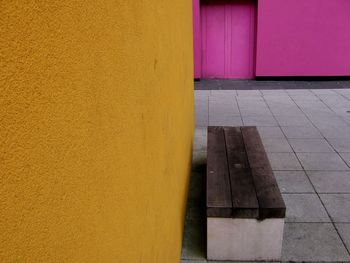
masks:
[[[207,262],[208,125],[258,127],[287,205],[282,262],[350,262],[350,86],[319,82],[322,89],[316,89],[318,82],[303,82],[304,89],[292,89],[292,82],[287,85],[291,89],[268,90],[267,84],[256,82],[254,89],[254,82],[247,82],[247,89],[240,84],[241,89],[229,90],[229,83],[225,90],[195,91],[193,172],[182,262]],[[327,83],[330,88],[324,89]]]

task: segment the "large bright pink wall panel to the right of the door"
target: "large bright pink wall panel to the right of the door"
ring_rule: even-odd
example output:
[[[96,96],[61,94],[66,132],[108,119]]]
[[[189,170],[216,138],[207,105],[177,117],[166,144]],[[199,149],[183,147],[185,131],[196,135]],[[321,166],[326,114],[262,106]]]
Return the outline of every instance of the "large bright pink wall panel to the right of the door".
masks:
[[[259,0],[257,76],[350,76],[350,0]]]

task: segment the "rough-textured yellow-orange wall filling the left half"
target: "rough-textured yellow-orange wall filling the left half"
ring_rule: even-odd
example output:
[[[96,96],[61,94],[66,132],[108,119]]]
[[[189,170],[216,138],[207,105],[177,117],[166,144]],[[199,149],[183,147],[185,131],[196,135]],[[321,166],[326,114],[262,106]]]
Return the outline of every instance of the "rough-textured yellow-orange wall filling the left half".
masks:
[[[191,1],[0,3],[0,262],[179,262]]]

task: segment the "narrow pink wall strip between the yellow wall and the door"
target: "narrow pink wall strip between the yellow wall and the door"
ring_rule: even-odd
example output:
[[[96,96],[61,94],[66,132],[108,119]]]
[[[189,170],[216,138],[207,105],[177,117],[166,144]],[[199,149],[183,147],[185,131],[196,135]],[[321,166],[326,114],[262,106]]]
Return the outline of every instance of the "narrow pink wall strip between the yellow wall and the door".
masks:
[[[201,18],[200,0],[193,0],[193,45],[194,45],[194,78],[199,79],[202,74],[202,48],[201,48]]]

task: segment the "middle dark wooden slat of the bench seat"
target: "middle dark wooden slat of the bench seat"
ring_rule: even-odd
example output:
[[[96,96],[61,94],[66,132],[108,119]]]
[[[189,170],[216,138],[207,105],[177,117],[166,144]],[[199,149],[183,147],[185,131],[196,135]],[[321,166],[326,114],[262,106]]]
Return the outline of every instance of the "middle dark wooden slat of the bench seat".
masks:
[[[232,216],[258,218],[259,204],[240,128],[224,127],[231,181]]]

